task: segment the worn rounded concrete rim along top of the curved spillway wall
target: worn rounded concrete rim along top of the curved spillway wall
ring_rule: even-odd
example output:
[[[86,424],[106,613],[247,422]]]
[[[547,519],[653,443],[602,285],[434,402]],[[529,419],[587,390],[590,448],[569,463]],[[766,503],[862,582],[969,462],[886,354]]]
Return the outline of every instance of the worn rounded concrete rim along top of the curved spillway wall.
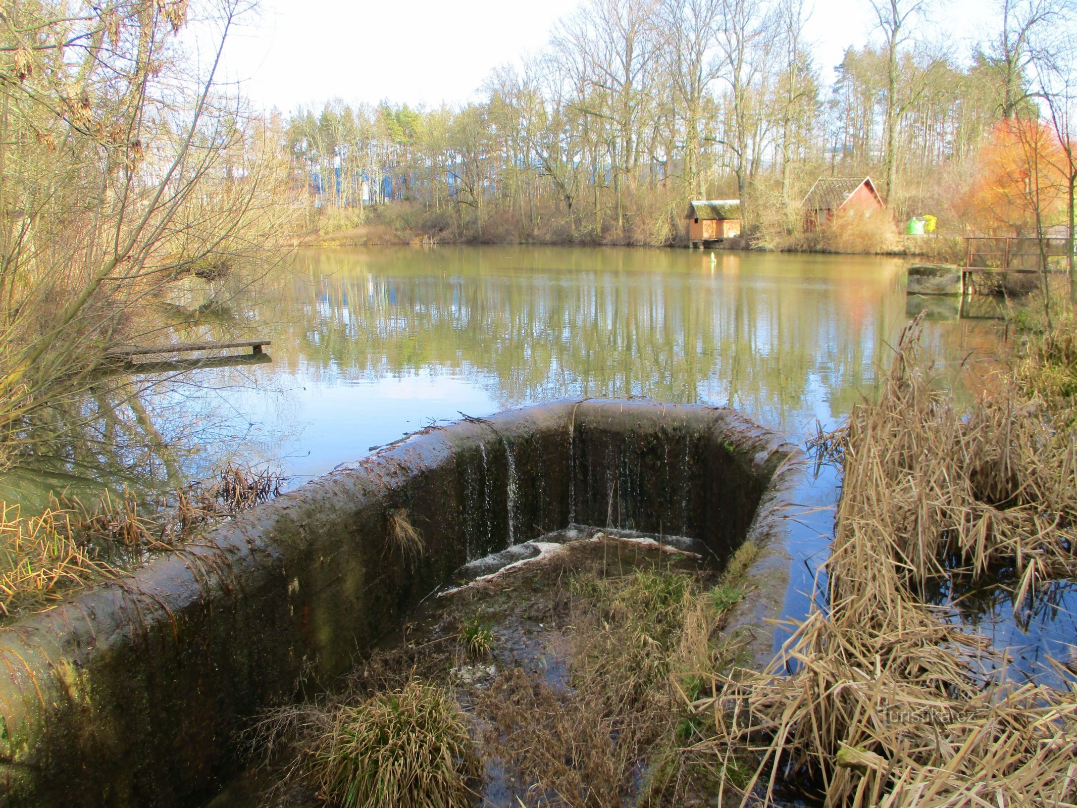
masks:
[[[676,407],[632,400],[565,401],[509,410],[451,428],[423,430],[353,468],[322,477],[221,526],[201,546],[157,559],[122,584],[83,593],[64,607],[28,617],[0,632],[0,679],[15,683],[22,697],[22,703],[17,705],[11,698],[15,694],[0,687],[0,711],[4,720],[17,721],[22,713],[26,721],[32,722],[34,715],[29,713],[38,712],[33,709],[34,703],[43,708],[42,712],[50,711],[50,703],[53,708],[66,705],[65,709],[90,709],[93,694],[87,685],[92,685],[93,680],[87,679],[86,673],[95,655],[109,649],[129,652],[139,645],[140,636],[149,636],[151,624],[167,625],[172,621],[177,637],[183,633],[177,619],[188,625],[193,621],[198,626],[211,626],[220,631],[222,622],[227,623],[227,615],[223,621],[218,616],[214,623],[212,612],[216,609],[220,614],[222,604],[227,605],[229,601],[244,603],[243,612],[250,613],[248,621],[266,619],[267,625],[277,625],[278,635],[267,644],[271,644],[272,650],[279,649],[280,627],[291,628],[282,610],[297,607],[299,602],[292,597],[294,559],[308,563],[306,552],[311,546],[311,537],[318,533],[326,514],[334,514],[336,520],[354,520],[360,525],[355,528],[359,534],[364,531],[377,533],[378,526],[375,523],[372,527],[374,517],[368,513],[372,500],[375,500],[374,511],[380,512],[387,492],[400,490],[409,479],[438,466],[461,446],[477,446],[487,441],[491,429],[500,437],[523,436],[550,429],[568,431],[574,416],[601,420],[603,415],[612,413],[611,404],[614,403],[619,412],[627,409],[641,421],[663,422],[674,415],[682,422],[705,420],[712,433],[735,435],[737,455],[751,458],[754,474],[768,475],[764,498],[747,537],[763,548],[763,553],[747,572],[749,583],[754,583],[754,587],[732,615],[730,630],[747,633],[751,653],[757,663],[769,661],[772,627],[766,619],[780,614],[789,558],[787,531],[783,529],[777,509],[782,503],[786,480],[791,478],[789,460],[796,455],[795,447],[725,408]],[[324,548],[324,542],[318,546]],[[347,555],[351,551],[341,552]],[[326,566],[332,566],[333,560],[330,558]],[[296,577],[296,584],[298,581]],[[364,589],[368,584],[361,581],[356,586]],[[285,588],[288,597],[281,598]],[[367,608],[367,604],[363,601],[360,607]],[[337,618],[344,622],[348,616],[345,613]],[[290,647],[302,649],[309,638],[295,633],[291,642]],[[174,651],[176,657],[181,651],[159,643],[152,650],[164,654]],[[182,670],[183,667],[182,658],[163,659],[162,663],[167,664],[166,668],[171,665]],[[296,658],[281,663],[280,670],[275,671],[277,679],[260,685],[261,692],[286,698],[299,663]],[[212,709],[212,705],[202,707]],[[0,757],[0,785],[19,779],[16,770],[19,765],[12,758],[5,765]],[[207,776],[205,771],[192,772],[195,775]],[[6,796],[0,793],[0,805],[9,804]],[[86,794],[85,803],[122,805],[123,800],[123,794]],[[163,794],[159,802],[169,804],[169,796]]]

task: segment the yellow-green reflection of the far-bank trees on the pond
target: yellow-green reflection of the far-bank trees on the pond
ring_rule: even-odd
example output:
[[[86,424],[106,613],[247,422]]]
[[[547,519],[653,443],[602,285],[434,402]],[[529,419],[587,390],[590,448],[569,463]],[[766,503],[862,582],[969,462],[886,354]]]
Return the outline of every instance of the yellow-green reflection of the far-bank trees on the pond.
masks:
[[[372,254],[325,253],[282,279],[278,364],[346,379],[471,366],[506,404],[637,394],[784,420],[870,385],[904,314],[899,265],[872,259],[724,254],[712,271],[682,251]]]

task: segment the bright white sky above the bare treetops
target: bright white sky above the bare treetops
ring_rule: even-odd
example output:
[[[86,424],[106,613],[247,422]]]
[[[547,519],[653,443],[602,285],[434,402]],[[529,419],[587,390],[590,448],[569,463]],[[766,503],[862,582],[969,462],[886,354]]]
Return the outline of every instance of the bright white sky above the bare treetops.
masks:
[[[475,97],[490,71],[542,50],[579,0],[261,0],[229,34],[220,75],[255,108],[325,101],[436,107]],[[923,33],[963,58],[991,30],[991,0],[928,0]],[[815,0],[807,26],[828,82],[871,31],[867,0]]]

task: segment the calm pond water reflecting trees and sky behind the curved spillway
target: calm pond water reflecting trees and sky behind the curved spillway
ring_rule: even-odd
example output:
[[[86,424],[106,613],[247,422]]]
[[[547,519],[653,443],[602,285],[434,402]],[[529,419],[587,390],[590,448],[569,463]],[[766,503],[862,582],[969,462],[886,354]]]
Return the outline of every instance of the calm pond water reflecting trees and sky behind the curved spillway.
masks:
[[[361,248],[300,252],[254,278],[190,278],[162,302],[165,328],[180,339],[268,338],[272,361],[146,376],[169,447],[159,464],[190,479],[229,458],[269,462],[294,487],[432,422],[565,396],[729,405],[801,441],[871,394],[908,322],[907,264]],[[989,319],[928,311],[925,348],[953,367],[990,363],[999,339]],[[33,470],[8,487],[26,499],[71,482],[66,474]],[[788,614],[807,611],[837,496],[824,466],[798,497]]]

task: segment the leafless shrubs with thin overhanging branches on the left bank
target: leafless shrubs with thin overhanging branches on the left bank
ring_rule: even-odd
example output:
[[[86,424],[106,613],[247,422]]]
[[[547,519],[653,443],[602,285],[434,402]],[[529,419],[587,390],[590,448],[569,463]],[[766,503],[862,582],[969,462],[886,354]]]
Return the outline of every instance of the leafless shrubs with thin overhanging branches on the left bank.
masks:
[[[0,466],[70,459],[75,438],[138,390],[98,371],[108,350],[169,342],[179,278],[271,247],[283,176],[256,121],[221,95],[220,48],[182,50],[188,16],[235,0],[16,0],[0,20]],[[111,418],[111,421],[109,420]],[[152,434],[143,434],[153,440]],[[111,446],[108,447],[110,450]]]

